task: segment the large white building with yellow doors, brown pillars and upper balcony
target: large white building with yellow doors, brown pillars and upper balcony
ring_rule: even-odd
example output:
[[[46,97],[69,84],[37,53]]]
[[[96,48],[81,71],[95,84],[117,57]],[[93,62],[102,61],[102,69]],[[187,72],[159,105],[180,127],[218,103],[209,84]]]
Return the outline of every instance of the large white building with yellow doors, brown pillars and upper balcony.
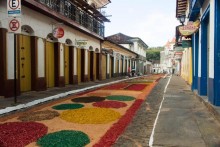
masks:
[[[15,23],[8,21],[14,18],[8,17],[7,0],[0,1],[0,96],[13,95],[15,75],[17,94],[101,79],[101,42],[109,20],[98,10],[108,3],[22,0]],[[15,27],[21,29],[16,35],[10,33]]]

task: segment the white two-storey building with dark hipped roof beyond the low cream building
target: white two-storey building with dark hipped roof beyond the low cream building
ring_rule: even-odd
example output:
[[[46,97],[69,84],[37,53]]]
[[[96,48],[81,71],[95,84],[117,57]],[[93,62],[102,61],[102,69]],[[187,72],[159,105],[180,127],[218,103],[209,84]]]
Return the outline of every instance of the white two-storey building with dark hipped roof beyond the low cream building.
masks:
[[[108,36],[107,39],[137,53],[138,56],[132,61],[131,67],[132,69],[135,69],[137,73],[146,73],[145,62],[148,46],[143,40],[138,37],[130,37],[122,33]]]

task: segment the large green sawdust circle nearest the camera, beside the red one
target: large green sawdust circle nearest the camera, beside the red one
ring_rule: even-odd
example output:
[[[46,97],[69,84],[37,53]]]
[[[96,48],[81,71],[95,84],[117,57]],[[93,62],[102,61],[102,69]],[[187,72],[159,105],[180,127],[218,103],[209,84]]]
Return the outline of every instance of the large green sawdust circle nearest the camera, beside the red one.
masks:
[[[88,135],[81,131],[62,130],[38,139],[41,147],[82,147],[90,143]]]

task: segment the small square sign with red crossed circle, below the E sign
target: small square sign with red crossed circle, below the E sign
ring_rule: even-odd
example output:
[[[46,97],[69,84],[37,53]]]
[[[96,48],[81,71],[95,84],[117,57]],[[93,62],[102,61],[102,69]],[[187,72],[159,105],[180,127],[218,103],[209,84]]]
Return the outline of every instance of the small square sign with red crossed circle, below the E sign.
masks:
[[[20,18],[9,19],[8,32],[21,33],[21,21]]]

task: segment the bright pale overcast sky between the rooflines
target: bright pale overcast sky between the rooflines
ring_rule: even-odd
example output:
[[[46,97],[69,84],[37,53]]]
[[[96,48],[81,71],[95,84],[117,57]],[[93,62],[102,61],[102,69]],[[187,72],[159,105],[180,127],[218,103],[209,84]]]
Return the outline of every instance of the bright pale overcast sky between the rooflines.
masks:
[[[164,46],[179,25],[176,0],[111,0],[103,10],[112,15],[105,23],[106,37],[120,32],[141,38],[149,47]]]

